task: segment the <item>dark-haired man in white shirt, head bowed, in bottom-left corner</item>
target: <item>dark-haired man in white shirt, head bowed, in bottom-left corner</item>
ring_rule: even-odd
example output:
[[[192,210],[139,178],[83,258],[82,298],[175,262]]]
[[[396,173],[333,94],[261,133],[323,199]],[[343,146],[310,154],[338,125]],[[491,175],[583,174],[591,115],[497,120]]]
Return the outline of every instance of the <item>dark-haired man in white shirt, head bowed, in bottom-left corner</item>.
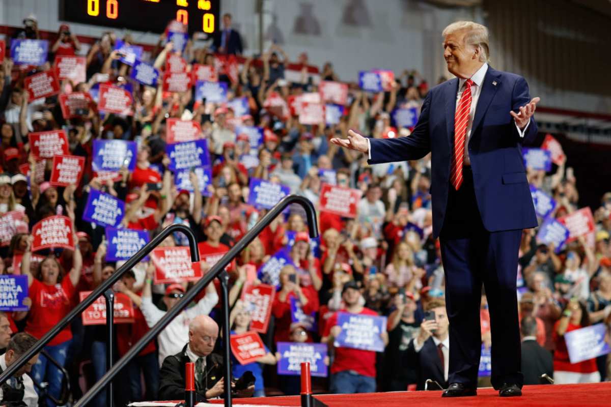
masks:
[[[0,356],[0,373],[4,372],[9,366],[17,361],[33,347],[37,339],[24,332],[15,334],[7,346],[7,351]],[[34,389],[34,382],[26,373],[31,372],[32,366],[38,361],[38,354],[27,361],[12,377],[0,386],[0,406],[4,405],[25,405],[27,407],[38,406],[38,394]],[[19,403],[23,404],[19,404]]]

